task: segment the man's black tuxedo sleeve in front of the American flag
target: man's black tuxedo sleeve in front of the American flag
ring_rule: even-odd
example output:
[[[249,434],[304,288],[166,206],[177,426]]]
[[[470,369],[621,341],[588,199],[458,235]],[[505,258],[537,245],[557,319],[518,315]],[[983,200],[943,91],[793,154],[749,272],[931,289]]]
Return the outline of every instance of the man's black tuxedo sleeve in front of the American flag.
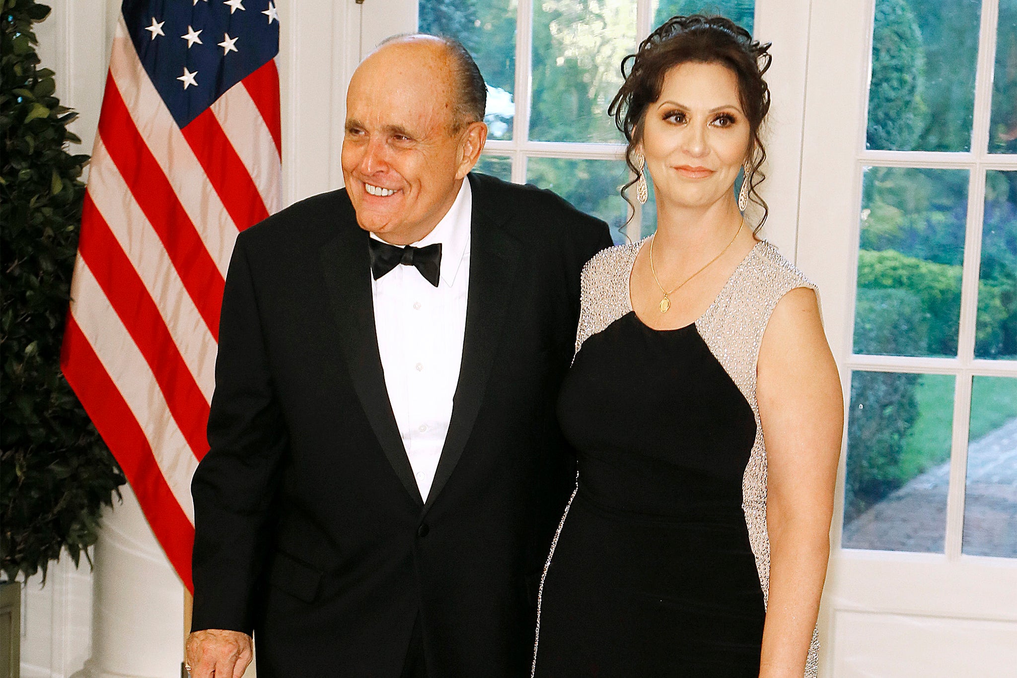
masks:
[[[252,631],[254,588],[271,546],[267,523],[288,445],[245,235],[237,239],[223,296],[211,449],[191,482],[195,631]]]

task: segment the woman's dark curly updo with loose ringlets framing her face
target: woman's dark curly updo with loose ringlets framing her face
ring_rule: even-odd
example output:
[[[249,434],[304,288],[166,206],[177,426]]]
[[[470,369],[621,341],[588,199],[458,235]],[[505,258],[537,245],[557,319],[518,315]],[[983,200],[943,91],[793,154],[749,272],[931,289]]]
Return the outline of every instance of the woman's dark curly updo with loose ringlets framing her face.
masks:
[[[718,63],[729,68],[738,80],[738,101],[749,120],[750,142],[746,158],[750,199],[763,207],[766,222],[769,208],[756,188],[766,178],[760,167],[766,160],[766,148],[760,139],[760,127],[770,111],[770,87],[763,74],[770,68],[770,43],[760,44],[752,35],[723,16],[672,16],[644,40],[636,54],[621,60],[621,76],[625,81],[607,109],[625,139],[625,163],[636,173],[636,179],[621,187],[621,197],[629,204],[629,188],[639,179],[642,170],[633,162],[636,144],[643,138],[643,122],[647,107],[660,99],[664,76],[671,68],[689,62]]]

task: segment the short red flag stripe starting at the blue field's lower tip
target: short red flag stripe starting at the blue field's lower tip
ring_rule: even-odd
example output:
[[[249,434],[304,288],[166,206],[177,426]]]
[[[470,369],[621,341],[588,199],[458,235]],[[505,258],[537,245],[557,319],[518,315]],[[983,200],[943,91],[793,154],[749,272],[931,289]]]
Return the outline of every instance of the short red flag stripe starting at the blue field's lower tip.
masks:
[[[180,131],[197,156],[212,187],[219,193],[237,229],[243,231],[268,218],[268,210],[254,180],[211,108]]]

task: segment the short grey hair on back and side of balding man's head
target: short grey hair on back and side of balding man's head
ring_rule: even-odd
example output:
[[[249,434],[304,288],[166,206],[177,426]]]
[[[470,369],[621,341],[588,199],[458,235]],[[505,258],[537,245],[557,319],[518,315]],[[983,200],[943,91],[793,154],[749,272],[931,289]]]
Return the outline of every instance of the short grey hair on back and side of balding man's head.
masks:
[[[462,43],[443,36],[404,34],[381,41],[375,53],[397,45],[432,51],[441,55],[439,58],[443,57],[447,69],[445,74],[450,78],[450,98],[454,106],[453,133],[459,132],[471,122],[483,121],[487,107],[487,84],[480,74],[477,62]]]

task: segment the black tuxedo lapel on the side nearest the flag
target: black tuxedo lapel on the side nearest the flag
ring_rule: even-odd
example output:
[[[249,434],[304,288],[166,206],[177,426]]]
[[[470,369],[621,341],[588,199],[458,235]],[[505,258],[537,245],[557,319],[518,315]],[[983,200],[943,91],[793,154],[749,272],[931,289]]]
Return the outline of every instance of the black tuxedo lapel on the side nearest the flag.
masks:
[[[352,209],[348,219],[355,219]],[[349,366],[353,387],[381,449],[406,491],[422,506],[424,502],[388,400],[378,353],[367,249],[369,236],[349,223],[340,228],[342,232],[320,250],[325,285],[340,329],[340,348]]]

